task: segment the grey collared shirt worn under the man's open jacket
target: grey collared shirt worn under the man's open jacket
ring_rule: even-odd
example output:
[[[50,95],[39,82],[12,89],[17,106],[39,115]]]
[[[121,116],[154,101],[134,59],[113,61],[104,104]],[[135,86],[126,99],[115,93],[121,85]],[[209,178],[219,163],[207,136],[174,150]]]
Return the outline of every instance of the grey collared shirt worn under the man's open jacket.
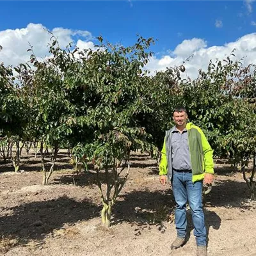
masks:
[[[191,160],[188,145],[188,131],[182,133],[175,127],[172,132],[172,168],[176,170],[191,170]]]

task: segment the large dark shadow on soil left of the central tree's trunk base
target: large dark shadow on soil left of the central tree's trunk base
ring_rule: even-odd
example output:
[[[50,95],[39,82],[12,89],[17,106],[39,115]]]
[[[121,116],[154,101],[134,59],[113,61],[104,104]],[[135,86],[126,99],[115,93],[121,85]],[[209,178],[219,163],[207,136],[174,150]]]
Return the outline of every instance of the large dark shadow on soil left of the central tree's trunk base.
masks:
[[[12,215],[0,218],[0,236],[15,237],[20,243],[28,243],[30,239],[44,239],[65,223],[72,224],[99,216],[100,208],[88,199],[77,202],[67,196],[22,204],[8,209],[13,212]]]

